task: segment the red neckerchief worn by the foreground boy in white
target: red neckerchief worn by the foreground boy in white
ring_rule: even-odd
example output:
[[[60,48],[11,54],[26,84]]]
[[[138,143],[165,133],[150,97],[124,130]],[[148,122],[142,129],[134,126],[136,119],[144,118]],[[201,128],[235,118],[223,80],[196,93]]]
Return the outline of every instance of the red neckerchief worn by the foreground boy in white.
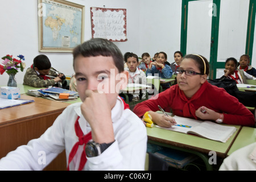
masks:
[[[121,98],[121,97],[119,97],[119,98]],[[123,101],[122,98],[121,98],[121,100]],[[130,109],[129,104],[126,104],[125,101],[123,101],[123,105],[124,105],[124,109]],[[81,158],[80,158],[80,164],[79,164],[79,169],[78,170],[81,171],[84,168],[85,163],[87,161],[86,154],[85,154],[85,146],[86,146],[86,143],[88,143],[89,140],[92,139],[92,132],[91,131],[86,135],[84,135],[84,133],[82,132],[81,127],[79,125],[79,118],[80,117],[78,116],[77,119],[76,119],[76,122],[75,122],[75,132],[76,132],[76,136],[79,138],[79,141],[75,143],[71,152],[69,153],[68,168],[67,168],[68,171],[69,171],[69,164],[72,162],[74,156],[76,155],[78,147],[81,146],[81,145],[84,145],[84,150],[82,150],[82,155],[81,155]]]

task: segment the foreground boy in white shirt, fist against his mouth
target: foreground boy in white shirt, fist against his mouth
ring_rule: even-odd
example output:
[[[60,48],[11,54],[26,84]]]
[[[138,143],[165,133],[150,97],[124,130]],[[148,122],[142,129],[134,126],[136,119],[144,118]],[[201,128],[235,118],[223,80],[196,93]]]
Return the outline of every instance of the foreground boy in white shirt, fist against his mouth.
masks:
[[[2,158],[0,170],[42,170],[63,150],[70,170],[144,170],[146,129],[118,97],[128,76],[121,51],[94,38],[73,49],[73,67],[82,102],[69,105],[39,139]],[[42,151],[46,164],[38,162]]]

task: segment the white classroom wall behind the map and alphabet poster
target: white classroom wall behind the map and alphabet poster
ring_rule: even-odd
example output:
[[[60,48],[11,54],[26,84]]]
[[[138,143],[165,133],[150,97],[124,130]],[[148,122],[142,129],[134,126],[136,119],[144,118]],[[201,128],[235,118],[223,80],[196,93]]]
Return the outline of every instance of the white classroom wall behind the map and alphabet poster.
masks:
[[[180,48],[180,0],[69,0],[85,6],[85,40],[92,38],[90,7],[127,9],[127,42],[115,43],[122,53],[127,51],[141,56],[165,51],[168,60]],[[49,57],[52,67],[65,75],[72,75],[72,53],[42,53],[38,51],[38,1],[0,1],[0,57],[7,54],[24,55],[27,67],[39,54]],[[2,60],[0,60],[2,62]],[[16,75],[23,83],[24,72]],[[7,73],[0,75],[0,85],[7,85]]]

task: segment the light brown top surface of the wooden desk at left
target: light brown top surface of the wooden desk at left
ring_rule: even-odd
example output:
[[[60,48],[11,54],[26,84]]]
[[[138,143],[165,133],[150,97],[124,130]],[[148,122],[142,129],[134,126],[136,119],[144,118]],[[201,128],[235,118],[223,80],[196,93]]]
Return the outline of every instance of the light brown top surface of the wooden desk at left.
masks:
[[[68,103],[55,102],[44,98],[21,95],[21,99],[34,100],[35,102],[9,107],[0,110],[0,127],[10,125],[23,119],[31,119],[42,115],[62,111]]]

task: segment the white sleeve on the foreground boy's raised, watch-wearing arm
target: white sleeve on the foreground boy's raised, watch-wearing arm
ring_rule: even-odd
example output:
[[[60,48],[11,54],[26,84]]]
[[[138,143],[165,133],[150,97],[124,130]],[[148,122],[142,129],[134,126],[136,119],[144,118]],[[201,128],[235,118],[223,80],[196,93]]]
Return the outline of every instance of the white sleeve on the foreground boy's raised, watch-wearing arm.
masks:
[[[101,155],[88,158],[86,170],[144,170],[147,148],[146,127],[138,117],[133,119],[135,122],[131,123],[132,125],[127,124],[122,129],[118,129],[115,142]]]

